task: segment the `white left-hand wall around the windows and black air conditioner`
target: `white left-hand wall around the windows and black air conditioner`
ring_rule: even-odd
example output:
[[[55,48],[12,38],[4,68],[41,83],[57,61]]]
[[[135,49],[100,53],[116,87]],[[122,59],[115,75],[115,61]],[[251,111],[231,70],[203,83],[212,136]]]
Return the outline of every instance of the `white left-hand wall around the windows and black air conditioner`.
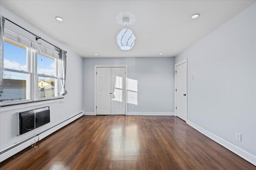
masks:
[[[83,65],[82,58],[76,55],[70,49],[61,45],[57,41],[54,41],[54,39],[32,27],[17,16],[14,16],[14,14],[10,13],[5,8],[2,8],[2,6],[0,7],[0,10],[2,16],[17,23],[25,29],[28,29],[32,33],[39,35],[57,47],[67,51],[66,89],[68,90],[68,94],[63,100],[52,100],[46,102],[36,102],[35,104],[20,104],[16,106],[0,107],[0,150],[2,152],[5,149],[12,147],[16,143],[24,141],[34,134],[40,133],[83,110],[83,77],[81,74]],[[17,113],[20,111],[34,109],[35,107],[44,106],[50,106],[50,123],[37,128],[36,131],[30,131],[23,135],[17,136]]]

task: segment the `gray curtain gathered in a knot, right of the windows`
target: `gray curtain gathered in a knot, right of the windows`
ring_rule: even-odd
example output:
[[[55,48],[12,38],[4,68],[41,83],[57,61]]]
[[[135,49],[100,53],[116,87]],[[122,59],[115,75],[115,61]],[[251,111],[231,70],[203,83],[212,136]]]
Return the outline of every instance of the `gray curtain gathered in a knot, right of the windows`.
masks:
[[[60,95],[65,96],[68,94],[66,88],[65,88],[65,82],[66,82],[66,68],[67,68],[67,55],[66,51],[60,49],[60,84],[61,84],[61,91]]]

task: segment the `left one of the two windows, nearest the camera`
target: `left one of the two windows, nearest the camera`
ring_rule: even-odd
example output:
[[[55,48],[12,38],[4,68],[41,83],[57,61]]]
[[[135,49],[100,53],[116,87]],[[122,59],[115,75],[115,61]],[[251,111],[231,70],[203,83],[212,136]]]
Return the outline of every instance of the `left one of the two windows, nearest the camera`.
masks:
[[[0,86],[0,102],[31,100],[30,56],[26,46],[4,40],[4,76]]]

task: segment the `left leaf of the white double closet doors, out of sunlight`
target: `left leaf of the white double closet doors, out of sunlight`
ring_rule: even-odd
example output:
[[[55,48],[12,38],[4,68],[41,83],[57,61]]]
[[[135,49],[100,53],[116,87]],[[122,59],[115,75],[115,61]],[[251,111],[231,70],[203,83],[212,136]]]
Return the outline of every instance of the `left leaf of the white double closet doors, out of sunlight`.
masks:
[[[97,115],[111,114],[111,68],[97,68]]]

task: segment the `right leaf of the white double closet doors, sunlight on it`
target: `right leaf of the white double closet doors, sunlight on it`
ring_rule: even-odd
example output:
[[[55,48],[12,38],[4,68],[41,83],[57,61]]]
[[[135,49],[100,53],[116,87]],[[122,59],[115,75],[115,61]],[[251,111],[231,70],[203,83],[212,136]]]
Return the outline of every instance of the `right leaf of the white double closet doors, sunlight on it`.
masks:
[[[126,104],[125,67],[111,68],[111,114],[125,115]]]

